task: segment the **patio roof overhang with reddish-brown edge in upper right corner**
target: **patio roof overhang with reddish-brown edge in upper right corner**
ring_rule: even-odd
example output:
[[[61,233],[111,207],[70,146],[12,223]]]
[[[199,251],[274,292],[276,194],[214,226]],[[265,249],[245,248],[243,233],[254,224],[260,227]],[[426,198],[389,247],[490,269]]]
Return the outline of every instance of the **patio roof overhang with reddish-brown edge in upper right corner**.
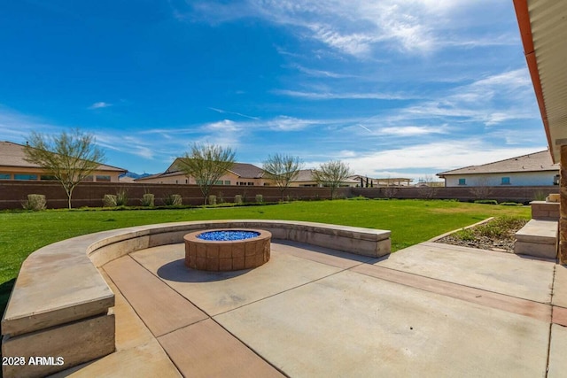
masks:
[[[514,0],[541,120],[555,162],[567,144],[567,2]]]

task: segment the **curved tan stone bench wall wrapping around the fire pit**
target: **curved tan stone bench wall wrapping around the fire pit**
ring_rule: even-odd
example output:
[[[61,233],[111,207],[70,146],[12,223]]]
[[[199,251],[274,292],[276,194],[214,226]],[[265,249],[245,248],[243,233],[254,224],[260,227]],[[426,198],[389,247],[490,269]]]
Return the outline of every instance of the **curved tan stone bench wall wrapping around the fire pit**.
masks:
[[[260,228],[273,239],[369,257],[390,253],[390,231],[287,220],[206,220],[120,228],[52,243],[24,261],[2,319],[4,376],[44,376],[114,351],[114,294],[97,267],[128,253],[183,243],[209,228]],[[30,365],[30,358],[47,365]],[[58,358],[64,364],[58,365]]]

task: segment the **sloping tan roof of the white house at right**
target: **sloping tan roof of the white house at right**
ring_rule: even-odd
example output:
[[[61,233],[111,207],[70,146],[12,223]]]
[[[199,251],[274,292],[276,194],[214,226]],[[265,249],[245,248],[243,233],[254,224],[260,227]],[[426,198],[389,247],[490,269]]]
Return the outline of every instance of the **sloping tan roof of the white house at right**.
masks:
[[[517,158],[507,158],[482,166],[465,166],[452,171],[441,172],[439,177],[452,174],[501,174],[514,172],[558,171],[559,164],[554,164],[548,150],[534,152]]]

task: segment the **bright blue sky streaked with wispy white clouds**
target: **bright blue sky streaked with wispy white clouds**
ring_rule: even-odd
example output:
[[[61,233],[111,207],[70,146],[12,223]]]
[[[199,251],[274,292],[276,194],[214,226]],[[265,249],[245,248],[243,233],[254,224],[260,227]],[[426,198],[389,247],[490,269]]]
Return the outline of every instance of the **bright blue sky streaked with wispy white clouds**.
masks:
[[[79,127],[138,174],[193,142],[416,180],[547,148],[511,0],[19,0],[0,25],[0,140]]]

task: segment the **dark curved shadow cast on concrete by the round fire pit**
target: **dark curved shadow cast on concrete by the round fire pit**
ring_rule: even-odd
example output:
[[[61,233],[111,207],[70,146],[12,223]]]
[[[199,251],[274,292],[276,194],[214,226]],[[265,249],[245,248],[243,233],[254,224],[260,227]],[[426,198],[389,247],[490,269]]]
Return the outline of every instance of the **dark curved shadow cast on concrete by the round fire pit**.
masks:
[[[158,269],[158,276],[164,280],[175,282],[215,282],[224,281],[239,275],[247,274],[252,269],[237,270],[234,272],[206,272],[190,269],[184,264],[185,259],[171,261]]]

